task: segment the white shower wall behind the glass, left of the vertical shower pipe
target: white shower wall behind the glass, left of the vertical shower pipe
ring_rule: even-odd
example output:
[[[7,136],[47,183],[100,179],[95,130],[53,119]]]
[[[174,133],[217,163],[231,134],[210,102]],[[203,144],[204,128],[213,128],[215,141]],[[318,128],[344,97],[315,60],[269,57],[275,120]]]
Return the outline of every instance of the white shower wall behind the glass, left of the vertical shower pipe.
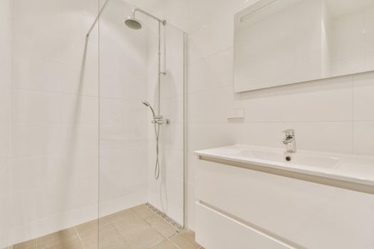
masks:
[[[132,6],[100,18],[100,216],[147,202],[147,28],[123,24]]]

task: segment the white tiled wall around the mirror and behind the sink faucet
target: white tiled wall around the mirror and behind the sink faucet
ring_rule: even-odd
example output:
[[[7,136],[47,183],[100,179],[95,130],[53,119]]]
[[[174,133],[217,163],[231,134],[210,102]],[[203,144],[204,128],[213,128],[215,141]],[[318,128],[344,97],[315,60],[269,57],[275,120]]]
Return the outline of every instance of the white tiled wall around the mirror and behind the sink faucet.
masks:
[[[281,147],[296,129],[298,149],[374,155],[374,73],[234,95],[234,14],[254,1],[189,0],[188,214],[194,228],[197,149],[234,143]],[[227,110],[245,108],[230,122]]]

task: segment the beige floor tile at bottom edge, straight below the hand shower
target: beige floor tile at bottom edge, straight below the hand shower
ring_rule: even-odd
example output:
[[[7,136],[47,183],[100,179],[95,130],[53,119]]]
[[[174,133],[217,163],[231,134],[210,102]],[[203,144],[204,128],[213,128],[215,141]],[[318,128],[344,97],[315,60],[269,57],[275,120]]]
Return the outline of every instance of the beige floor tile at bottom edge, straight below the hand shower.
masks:
[[[151,227],[126,235],[124,238],[132,249],[147,249],[165,240],[164,236]]]

